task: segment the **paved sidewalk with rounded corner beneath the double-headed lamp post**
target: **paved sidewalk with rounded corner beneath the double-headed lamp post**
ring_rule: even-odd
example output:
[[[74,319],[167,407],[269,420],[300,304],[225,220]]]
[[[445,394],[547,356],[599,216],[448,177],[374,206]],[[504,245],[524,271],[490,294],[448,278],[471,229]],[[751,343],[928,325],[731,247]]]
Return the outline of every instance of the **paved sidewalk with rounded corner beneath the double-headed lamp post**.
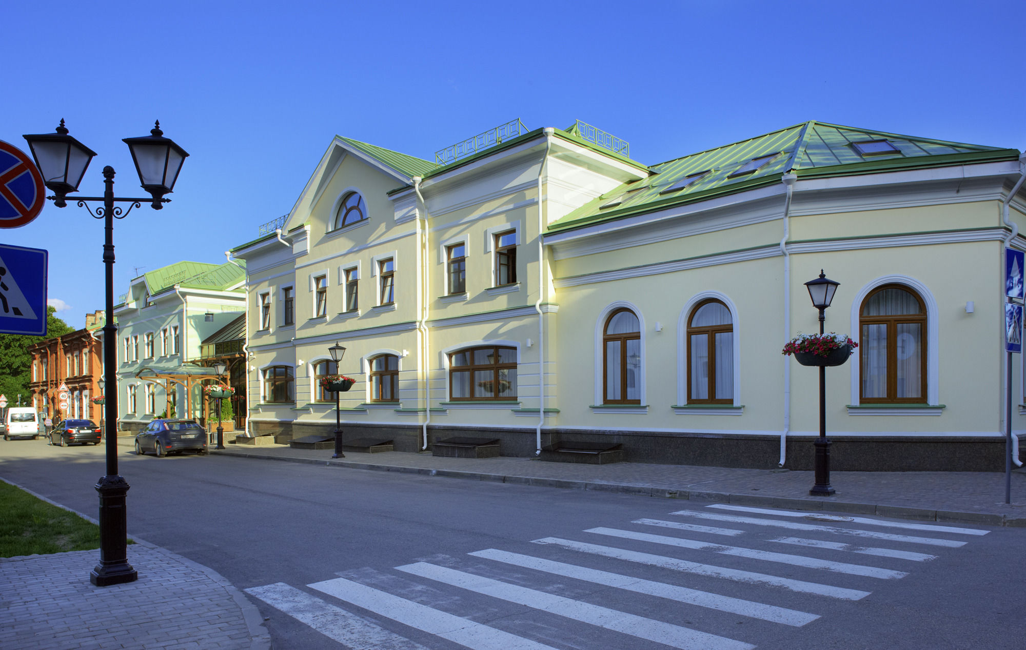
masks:
[[[132,539],[139,579],[113,586],[89,581],[98,550],[0,558],[0,648],[271,648],[260,610],[222,575]]]

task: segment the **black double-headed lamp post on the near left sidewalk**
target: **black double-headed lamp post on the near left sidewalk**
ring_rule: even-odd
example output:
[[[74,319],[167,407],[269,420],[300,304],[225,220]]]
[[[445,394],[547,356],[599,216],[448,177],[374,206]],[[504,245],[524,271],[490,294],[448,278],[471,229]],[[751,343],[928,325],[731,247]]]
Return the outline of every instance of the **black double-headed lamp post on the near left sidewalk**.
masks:
[[[114,219],[128,216],[132,208],[143,203],[159,210],[170,199],[163,198],[174,188],[174,181],[182,170],[186,153],[172,140],[163,136],[160,123],[143,137],[126,137],[124,143],[131,151],[132,161],[143,189],[150,193],[151,199],[120,199],[114,196],[114,168],[104,167],[104,182],[106,189],[102,197],[73,197],[79,207],[85,207],[95,218],[104,219],[104,265],[106,267],[107,318],[104,325],[104,379],[105,385],[111,389],[104,403],[104,419],[107,429],[111,422],[117,422],[118,392],[117,392],[117,326],[114,324]],[[85,175],[89,161],[95,152],[68,134],[64,120],[54,133],[25,135],[32,149],[36,166],[43,174],[46,187],[54,196],[47,197],[58,208],[65,207],[67,195],[78,192],[78,186]],[[89,202],[100,202],[95,213],[89,208]],[[130,203],[128,210],[122,214],[115,203]],[[96,483],[100,493],[100,564],[89,575],[90,581],[96,586],[132,582],[139,574],[128,564],[125,516],[125,494],[128,492],[128,482],[118,476],[118,440],[117,429],[113,436],[107,436],[107,475]]]

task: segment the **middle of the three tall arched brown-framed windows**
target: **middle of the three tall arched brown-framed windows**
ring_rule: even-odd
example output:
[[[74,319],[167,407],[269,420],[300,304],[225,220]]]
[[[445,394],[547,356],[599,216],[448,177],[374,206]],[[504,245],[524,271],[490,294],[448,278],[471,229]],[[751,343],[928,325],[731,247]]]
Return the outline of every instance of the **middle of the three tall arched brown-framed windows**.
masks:
[[[734,324],[731,310],[705,300],[687,321],[687,403],[734,402]]]

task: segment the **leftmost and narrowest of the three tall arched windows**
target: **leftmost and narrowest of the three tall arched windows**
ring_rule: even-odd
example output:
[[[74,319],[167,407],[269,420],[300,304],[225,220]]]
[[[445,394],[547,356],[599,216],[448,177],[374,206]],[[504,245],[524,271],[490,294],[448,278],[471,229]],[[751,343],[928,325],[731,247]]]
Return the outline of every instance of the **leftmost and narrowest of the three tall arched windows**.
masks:
[[[641,403],[641,325],[634,312],[620,309],[602,330],[603,404]]]

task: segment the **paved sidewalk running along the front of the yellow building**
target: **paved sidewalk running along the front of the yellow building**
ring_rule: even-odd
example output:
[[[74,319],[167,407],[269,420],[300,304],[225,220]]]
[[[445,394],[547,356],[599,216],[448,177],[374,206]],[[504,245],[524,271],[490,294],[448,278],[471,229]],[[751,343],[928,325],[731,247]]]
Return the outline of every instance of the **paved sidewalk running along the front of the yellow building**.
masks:
[[[648,496],[744,503],[767,507],[842,511],[931,521],[1026,527],[1026,468],[1012,473],[1012,503],[1004,503],[1001,472],[833,472],[833,497],[808,495],[812,472],[738,470],[617,462],[594,465],[534,458],[444,458],[430,453],[346,452],[291,449],[287,445],[227,444],[210,453],[405,472],[476,481],[629,492]]]

